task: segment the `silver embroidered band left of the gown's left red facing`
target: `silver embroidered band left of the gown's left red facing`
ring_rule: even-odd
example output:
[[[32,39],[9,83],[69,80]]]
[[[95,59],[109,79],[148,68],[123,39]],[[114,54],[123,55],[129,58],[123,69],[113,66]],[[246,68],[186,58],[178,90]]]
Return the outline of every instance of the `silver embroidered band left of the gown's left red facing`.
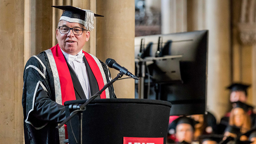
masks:
[[[53,74],[53,79],[54,79],[54,88],[55,88],[55,101],[56,101],[57,104],[62,105],[61,83],[60,83],[59,74],[58,74],[56,63],[55,63],[55,59],[52,55],[52,50],[51,49],[47,49],[47,50],[45,50],[45,52],[46,52],[46,55],[48,57],[50,67],[52,69],[52,74]],[[59,129],[60,144],[63,144],[64,139],[65,139],[65,129],[60,128]]]

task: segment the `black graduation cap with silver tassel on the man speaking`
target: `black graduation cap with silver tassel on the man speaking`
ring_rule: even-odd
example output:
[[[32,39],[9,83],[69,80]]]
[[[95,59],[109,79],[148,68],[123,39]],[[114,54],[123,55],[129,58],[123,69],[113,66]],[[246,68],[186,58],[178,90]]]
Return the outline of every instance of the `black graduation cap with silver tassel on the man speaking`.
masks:
[[[61,10],[65,10],[60,20],[65,20],[67,22],[76,22],[84,25],[87,30],[94,29],[94,19],[95,16],[101,16],[93,13],[91,10],[82,10],[79,7],[73,7],[71,5],[65,6],[52,6]]]

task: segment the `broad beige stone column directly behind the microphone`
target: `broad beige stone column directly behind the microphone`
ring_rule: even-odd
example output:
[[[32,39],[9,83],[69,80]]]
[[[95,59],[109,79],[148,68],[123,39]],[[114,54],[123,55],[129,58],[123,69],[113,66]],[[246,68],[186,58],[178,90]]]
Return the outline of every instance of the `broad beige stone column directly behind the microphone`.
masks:
[[[126,1],[97,1],[98,17],[96,36],[96,56],[104,61],[113,58],[134,73],[134,36],[135,36],[135,3]],[[119,71],[111,69],[111,77]],[[126,76],[123,76],[126,77]],[[133,79],[124,79],[114,83],[117,98],[134,98],[135,84]]]

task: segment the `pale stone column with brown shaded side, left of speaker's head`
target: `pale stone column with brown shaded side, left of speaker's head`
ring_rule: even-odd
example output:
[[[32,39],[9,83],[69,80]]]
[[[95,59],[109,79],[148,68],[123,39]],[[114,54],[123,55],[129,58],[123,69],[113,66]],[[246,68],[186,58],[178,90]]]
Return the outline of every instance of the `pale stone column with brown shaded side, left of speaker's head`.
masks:
[[[24,63],[52,47],[52,1],[25,0]]]

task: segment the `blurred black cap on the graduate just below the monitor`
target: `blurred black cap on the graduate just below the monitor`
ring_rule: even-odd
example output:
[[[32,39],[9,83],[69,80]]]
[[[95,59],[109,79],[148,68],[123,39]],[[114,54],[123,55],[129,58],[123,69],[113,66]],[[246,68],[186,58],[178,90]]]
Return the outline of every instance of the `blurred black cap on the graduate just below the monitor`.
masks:
[[[191,119],[191,118],[188,118],[186,116],[182,116],[182,117],[179,117],[177,119],[175,119],[170,125],[169,125],[169,130],[170,129],[174,129],[176,130],[176,126],[179,125],[179,124],[189,124],[192,126],[193,129],[195,129],[195,125],[198,124],[199,122],[195,121],[194,119]]]

